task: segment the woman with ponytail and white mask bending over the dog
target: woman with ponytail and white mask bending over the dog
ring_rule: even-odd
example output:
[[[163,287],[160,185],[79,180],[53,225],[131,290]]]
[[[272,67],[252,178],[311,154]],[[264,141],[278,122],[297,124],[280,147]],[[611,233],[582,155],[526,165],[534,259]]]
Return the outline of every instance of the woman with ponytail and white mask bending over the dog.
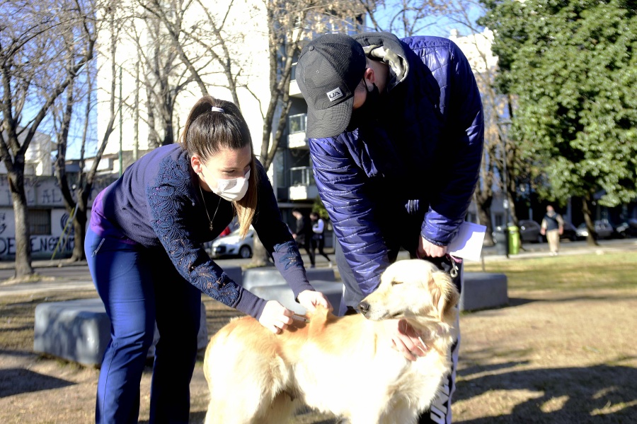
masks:
[[[205,251],[234,216],[243,237],[253,225],[301,305],[331,308],[307,281],[239,108],[205,96],[180,143],[147,153],[93,201],[84,249],[111,322],[96,423],[137,423],[155,324],[149,422],[188,422],[202,292],[272,332],[292,324],[294,312],[243,289]]]

